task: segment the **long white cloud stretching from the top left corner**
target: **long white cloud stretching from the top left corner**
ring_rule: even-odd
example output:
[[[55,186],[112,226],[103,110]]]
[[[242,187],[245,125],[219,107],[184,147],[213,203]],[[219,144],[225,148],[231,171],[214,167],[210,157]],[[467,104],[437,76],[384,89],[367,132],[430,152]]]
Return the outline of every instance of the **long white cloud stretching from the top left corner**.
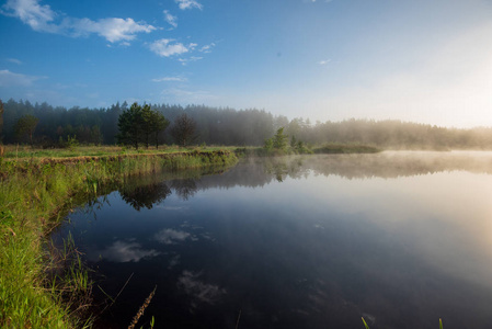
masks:
[[[65,16],[60,23],[55,23],[58,16],[49,5],[39,4],[39,0],[9,0],[3,7],[2,13],[20,19],[34,31],[66,34],[70,36],[87,36],[95,33],[110,43],[128,42],[134,39],[137,33],[150,33],[157,30],[144,22],[135,22],[133,19],[107,18],[98,21],[90,19],[76,19]]]

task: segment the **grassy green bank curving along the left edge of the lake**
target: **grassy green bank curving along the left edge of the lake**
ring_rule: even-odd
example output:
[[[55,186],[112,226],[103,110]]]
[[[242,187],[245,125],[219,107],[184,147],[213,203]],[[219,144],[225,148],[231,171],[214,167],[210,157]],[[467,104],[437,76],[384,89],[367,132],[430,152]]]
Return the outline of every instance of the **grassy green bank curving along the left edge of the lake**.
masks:
[[[54,270],[46,236],[77,204],[79,195],[96,195],[110,183],[124,184],[131,174],[163,170],[229,166],[237,161],[231,151],[193,150],[178,152],[100,149],[99,156],[81,152],[35,154],[8,149],[0,158],[0,327],[83,327],[73,314],[79,296],[89,290],[87,276],[75,268],[65,271],[62,283],[48,279]],[[23,150],[24,151],[24,150]],[[72,154],[77,150],[72,150]],[[73,249],[67,245],[70,253]],[[64,256],[61,256],[64,257]],[[77,260],[77,257],[76,257]],[[56,264],[55,264],[56,265]],[[68,272],[68,273],[67,273]],[[82,274],[82,275],[80,275]],[[55,276],[57,277],[57,276]],[[83,310],[83,305],[78,311]]]

